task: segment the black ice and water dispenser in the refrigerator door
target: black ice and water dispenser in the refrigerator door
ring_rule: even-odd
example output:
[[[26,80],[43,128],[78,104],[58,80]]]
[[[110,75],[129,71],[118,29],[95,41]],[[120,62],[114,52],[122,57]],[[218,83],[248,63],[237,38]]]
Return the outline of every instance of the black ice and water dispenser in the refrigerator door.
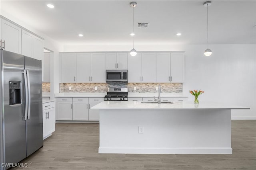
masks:
[[[9,82],[9,105],[21,104],[20,81]]]

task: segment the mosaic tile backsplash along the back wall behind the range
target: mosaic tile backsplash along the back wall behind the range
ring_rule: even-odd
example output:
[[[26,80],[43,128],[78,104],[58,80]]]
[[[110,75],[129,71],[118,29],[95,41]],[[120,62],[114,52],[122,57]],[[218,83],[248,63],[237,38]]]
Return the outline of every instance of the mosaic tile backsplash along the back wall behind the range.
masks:
[[[182,83],[60,83],[60,93],[63,92],[107,92],[108,87],[127,87],[128,92],[156,92],[156,86],[161,85],[162,92],[182,93]],[[97,90],[94,87],[97,86]],[[133,90],[136,86],[136,91]],[[68,90],[71,87],[71,90]]]

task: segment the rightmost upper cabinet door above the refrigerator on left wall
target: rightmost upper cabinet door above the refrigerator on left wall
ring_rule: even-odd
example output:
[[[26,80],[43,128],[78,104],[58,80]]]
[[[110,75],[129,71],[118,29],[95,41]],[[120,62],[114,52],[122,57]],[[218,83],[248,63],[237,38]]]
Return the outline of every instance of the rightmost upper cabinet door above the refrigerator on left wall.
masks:
[[[44,60],[44,40],[34,36],[34,55],[32,58],[37,60]]]

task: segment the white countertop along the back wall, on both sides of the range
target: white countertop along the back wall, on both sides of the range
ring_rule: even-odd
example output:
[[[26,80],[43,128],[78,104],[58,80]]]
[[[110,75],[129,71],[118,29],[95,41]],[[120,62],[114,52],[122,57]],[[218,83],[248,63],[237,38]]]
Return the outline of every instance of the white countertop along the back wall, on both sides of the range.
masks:
[[[103,98],[106,92],[93,92],[93,93],[56,93],[56,98]],[[128,92],[128,98],[153,98],[158,97],[158,93],[134,93]],[[161,98],[188,98],[183,93],[161,93]]]

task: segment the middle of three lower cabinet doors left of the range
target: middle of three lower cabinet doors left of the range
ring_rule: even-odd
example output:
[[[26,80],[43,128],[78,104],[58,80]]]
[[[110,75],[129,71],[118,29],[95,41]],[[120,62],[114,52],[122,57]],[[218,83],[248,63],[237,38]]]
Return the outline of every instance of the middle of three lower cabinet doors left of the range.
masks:
[[[87,102],[73,102],[73,120],[88,120]]]

